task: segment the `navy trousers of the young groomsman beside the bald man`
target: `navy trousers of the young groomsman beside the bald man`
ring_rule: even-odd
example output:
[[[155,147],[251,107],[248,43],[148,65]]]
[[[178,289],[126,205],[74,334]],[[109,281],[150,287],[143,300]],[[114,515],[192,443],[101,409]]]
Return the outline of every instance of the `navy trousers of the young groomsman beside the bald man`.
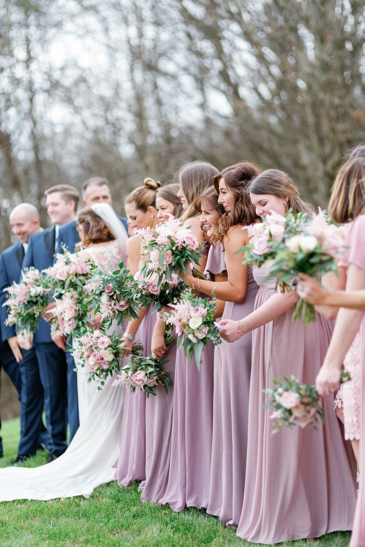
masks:
[[[34,344],[40,381],[44,391],[48,450],[65,452],[67,448],[67,363],[65,352],[54,342]]]

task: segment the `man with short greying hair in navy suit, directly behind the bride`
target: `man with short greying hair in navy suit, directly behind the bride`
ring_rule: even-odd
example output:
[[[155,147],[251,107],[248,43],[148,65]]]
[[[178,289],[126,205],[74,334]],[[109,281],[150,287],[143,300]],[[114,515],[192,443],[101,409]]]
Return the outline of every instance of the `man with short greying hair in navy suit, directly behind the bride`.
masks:
[[[112,205],[112,196],[109,189],[109,183],[106,178],[94,177],[84,182],[82,187],[82,203],[84,207],[90,207],[94,203],[109,203]],[[128,232],[127,219],[119,217]],[[61,243],[65,245],[71,253],[74,251],[76,243],[80,241],[79,232],[76,228],[76,220],[65,224],[60,228],[59,247],[57,253],[62,252]]]

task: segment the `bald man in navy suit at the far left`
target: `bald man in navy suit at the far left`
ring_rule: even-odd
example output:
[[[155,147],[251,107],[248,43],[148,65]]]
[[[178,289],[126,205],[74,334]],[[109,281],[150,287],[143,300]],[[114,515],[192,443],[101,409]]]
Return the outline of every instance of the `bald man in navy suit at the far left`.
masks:
[[[21,350],[16,341],[15,327],[5,325],[8,309],[6,306],[3,307],[6,301],[6,293],[3,290],[14,281],[19,282],[29,237],[40,231],[37,208],[31,203],[16,206],[10,213],[10,225],[19,241],[0,255],[0,367],[3,366],[20,398],[20,442],[18,456],[14,462],[18,465],[33,456],[39,444],[43,449],[46,447],[47,432],[42,422],[43,387],[36,352],[34,348]],[[0,451],[2,450],[0,437]]]

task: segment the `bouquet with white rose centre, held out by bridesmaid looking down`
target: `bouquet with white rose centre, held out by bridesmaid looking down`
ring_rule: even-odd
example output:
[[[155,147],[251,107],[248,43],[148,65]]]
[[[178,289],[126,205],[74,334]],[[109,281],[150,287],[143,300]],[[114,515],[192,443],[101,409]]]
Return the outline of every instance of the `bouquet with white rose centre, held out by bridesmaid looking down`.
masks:
[[[213,295],[212,295],[213,296]],[[214,296],[213,296],[214,298]],[[221,344],[221,335],[214,322],[216,304],[209,298],[200,298],[189,289],[186,296],[173,308],[171,315],[164,314],[166,325],[173,325],[176,330],[177,345],[182,347],[190,362],[195,357],[195,363],[200,371],[201,352],[204,346],[212,342],[213,346]],[[183,340],[183,335],[187,336]]]

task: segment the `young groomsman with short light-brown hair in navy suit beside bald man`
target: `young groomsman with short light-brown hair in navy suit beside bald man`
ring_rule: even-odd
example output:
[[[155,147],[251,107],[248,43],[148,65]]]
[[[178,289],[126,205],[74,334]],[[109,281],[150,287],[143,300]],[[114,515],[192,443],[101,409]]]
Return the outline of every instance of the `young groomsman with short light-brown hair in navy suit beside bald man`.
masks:
[[[60,226],[76,218],[79,202],[76,188],[59,184],[46,190],[44,194],[47,196],[47,212],[53,226],[31,235],[23,269],[34,266],[41,271],[51,266],[58,246]],[[49,461],[61,456],[67,448],[67,417],[71,439],[79,426],[77,376],[73,367],[72,370],[68,370],[62,344],[62,340],[51,338],[50,325],[41,318],[39,329],[34,333],[34,348],[44,389]]]

